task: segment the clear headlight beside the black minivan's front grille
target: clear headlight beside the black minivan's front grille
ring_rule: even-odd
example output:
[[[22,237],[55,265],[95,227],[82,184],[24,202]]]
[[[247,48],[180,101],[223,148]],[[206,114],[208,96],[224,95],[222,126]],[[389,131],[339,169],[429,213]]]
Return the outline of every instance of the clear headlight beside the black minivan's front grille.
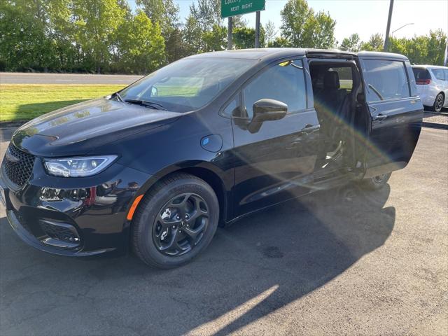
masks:
[[[43,159],[43,163],[50,175],[84,177],[102,172],[116,158],[116,155],[104,155],[85,158]]]

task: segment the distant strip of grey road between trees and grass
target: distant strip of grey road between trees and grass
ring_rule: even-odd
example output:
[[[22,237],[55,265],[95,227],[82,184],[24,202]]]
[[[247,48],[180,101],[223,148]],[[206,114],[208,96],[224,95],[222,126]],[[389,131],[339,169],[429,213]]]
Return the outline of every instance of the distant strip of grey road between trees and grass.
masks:
[[[141,76],[0,72],[1,84],[131,84]]]

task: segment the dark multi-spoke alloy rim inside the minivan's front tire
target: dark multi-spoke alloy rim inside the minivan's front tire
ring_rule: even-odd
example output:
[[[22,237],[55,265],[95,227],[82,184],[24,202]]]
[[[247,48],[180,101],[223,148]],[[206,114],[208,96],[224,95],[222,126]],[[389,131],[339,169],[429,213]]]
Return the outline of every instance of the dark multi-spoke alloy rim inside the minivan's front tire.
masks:
[[[153,225],[153,240],[160,253],[183,255],[204,237],[209,224],[209,208],[200,195],[174,196],[160,209]]]

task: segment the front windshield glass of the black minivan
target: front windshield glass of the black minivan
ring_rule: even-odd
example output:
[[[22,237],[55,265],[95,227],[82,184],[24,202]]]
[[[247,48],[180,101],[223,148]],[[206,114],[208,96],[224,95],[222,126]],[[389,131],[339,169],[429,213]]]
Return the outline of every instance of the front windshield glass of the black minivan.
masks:
[[[211,102],[253,59],[195,58],[169,64],[120,91],[123,100],[143,100],[174,112],[188,112]]]

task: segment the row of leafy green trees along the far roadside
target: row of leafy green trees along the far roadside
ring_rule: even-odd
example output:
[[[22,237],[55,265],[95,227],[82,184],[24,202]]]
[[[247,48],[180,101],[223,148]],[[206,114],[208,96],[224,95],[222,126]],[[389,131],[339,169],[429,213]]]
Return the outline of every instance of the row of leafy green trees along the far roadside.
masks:
[[[0,3],[0,71],[149,73],[199,52],[224,50],[227,25],[221,0],[198,0],[185,22],[173,0],[3,0]],[[233,18],[234,48],[254,48],[255,29]],[[382,50],[384,39],[358,34],[335,39],[336,21],[315,12],[306,0],[289,0],[281,27],[269,21],[260,29],[262,47]],[[442,64],[447,35],[391,38],[391,52],[412,63]]]

